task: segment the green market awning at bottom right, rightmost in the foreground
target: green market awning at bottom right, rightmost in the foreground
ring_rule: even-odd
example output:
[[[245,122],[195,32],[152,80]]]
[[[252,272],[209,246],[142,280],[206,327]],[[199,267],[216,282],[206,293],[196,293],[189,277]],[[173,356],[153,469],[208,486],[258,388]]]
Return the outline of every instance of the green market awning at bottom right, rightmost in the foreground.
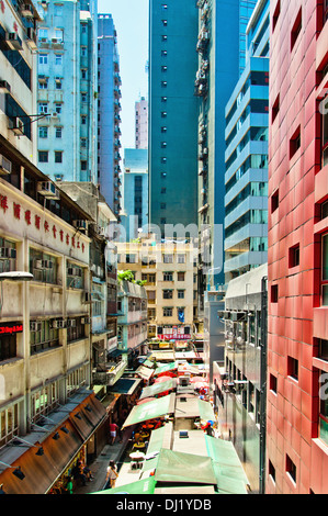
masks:
[[[205,436],[206,448],[208,456],[213,459],[214,470],[217,478],[217,486],[223,485],[224,480],[234,481],[236,485],[244,485],[242,490],[246,491],[246,485],[249,480],[244,471],[240,459],[233,442],[228,440],[217,439],[215,437]],[[234,491],[235,493],[235,491]]]

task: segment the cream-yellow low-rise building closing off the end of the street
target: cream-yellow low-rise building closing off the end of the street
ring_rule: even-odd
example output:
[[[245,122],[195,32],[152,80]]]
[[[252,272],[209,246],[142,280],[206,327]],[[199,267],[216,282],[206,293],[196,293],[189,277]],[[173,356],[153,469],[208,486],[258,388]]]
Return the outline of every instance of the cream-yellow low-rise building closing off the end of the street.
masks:
[[[118,271],[145,281],[148,338],[186,340],[197,332],[197,248],[186,240],[151,236],[117,244]]]

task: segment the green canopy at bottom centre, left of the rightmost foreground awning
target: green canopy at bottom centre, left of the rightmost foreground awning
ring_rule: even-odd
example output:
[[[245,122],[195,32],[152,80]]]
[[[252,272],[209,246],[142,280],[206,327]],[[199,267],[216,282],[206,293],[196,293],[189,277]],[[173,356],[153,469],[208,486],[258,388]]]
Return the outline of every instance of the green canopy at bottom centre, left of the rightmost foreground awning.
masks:
[[[216,485],[211,457],[195,456],[162,448],[155,472],[158,482]]]

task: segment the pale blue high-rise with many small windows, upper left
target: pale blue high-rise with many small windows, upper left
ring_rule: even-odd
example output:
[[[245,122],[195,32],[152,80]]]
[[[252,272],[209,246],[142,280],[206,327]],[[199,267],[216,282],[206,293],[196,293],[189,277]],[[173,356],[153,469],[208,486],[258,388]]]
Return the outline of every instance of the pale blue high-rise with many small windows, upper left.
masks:
[[[37,162],[56,181],[97,183],[95,4],[41,2]]]

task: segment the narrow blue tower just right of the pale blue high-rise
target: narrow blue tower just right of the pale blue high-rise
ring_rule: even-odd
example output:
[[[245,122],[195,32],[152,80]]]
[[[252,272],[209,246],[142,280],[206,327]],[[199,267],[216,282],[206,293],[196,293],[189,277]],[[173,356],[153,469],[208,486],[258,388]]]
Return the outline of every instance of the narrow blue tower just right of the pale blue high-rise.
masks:
[[[121,76],[117,37],[111,14],[98,15],[98,180],[118,216],[121,162]]]

